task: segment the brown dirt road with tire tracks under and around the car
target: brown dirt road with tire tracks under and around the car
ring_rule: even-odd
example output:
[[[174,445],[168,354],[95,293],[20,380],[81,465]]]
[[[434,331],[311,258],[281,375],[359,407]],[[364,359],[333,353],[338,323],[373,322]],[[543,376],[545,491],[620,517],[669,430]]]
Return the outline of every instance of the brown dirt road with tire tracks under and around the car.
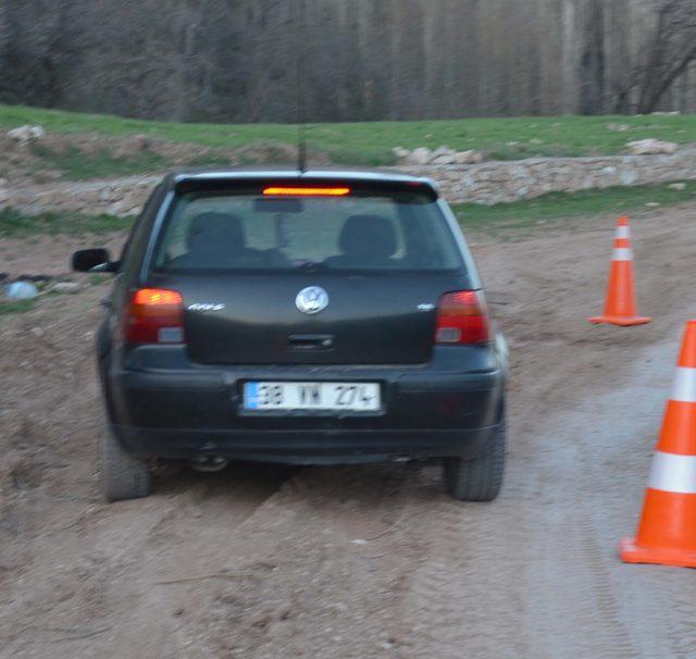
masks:
[[[696,573],[616,557],[696,315],[695,214],[634,220],[655,321],[629,330],[585,322],[612,219],[473,237],[513,359],[490,505],[448,500],[430,465],[237,464],[170,468],[149,499],[105,506],[91,335],[107,289],[0,318],[0,656],[695,657]]]

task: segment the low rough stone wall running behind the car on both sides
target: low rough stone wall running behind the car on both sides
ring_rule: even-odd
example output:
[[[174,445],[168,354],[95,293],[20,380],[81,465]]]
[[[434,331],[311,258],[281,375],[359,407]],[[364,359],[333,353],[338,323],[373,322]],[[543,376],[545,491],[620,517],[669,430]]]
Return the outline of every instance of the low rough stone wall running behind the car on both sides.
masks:
[[[577,191],[696,179],[696,148],[671,156],[534,158],[474,165],[403,166],[438,182],[450,202],[499,203],[551,191]],[[0,208],[27,214],[69,211],[130,215],[139,211],[159,176],[15,187],[0,179]]]

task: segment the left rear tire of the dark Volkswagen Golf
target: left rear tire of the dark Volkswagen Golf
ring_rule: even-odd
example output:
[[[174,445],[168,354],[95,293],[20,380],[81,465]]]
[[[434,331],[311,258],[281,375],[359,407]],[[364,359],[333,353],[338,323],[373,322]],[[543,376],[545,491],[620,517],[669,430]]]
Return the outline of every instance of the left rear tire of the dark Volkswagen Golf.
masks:
[[[108,501],[147,497],[152,488],[150,468],[127,453],[113,433],[101,435],[101,483]]]

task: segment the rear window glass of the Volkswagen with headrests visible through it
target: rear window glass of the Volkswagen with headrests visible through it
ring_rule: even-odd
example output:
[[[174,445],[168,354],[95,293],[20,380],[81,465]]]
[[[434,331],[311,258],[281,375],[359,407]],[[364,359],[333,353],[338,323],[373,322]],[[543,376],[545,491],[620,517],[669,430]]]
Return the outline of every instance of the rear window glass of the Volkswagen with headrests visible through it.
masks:
[[[447,271],[462,268],[437,203],[423,192],[179,195],[156,253],[158,271]]]

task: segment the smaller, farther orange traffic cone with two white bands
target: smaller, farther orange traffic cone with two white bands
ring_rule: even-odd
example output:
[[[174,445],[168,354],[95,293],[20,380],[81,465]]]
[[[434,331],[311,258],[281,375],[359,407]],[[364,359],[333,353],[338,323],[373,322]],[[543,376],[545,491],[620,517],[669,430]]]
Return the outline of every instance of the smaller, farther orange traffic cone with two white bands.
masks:
[[[619,217],[617,224],[605,313],[587,320],[595,324],[610,323],[624,327],[650,322],[649,318],[637,315],[635,308],[633,249],[631,248],[631,227],[627,217]]]

